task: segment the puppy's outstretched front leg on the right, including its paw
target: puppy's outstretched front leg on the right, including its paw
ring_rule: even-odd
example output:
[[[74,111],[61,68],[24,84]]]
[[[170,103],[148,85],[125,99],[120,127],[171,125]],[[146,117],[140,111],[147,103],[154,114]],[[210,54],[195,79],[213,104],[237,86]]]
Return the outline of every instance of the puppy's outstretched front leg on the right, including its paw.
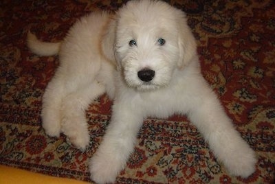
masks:
[[[255,171],[254,151],[235,130],[214,93],[204,86],[196,91],[188,117],[229,172],[246,178]]]

